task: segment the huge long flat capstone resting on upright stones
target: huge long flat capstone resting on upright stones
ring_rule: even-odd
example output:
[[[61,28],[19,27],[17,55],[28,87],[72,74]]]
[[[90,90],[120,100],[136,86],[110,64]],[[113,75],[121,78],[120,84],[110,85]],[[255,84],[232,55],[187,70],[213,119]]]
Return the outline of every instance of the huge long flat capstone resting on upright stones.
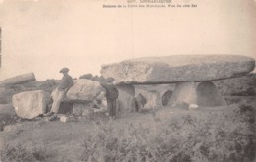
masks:
[[[125,60],[104,65],[104,78],[116,83],[174,83],[213,81],[244,76],[255,67],[255,60],[238,55],[172,55]]]

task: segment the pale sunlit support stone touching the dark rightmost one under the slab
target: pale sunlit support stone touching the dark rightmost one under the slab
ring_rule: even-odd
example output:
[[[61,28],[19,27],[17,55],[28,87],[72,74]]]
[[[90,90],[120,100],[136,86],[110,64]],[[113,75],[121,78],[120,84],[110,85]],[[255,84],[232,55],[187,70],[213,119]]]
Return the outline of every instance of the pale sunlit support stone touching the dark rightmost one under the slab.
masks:
[[[176,84],[169,104],[171,106],[190,105],[197,103],[197,91],[195,82],[179,82]]]

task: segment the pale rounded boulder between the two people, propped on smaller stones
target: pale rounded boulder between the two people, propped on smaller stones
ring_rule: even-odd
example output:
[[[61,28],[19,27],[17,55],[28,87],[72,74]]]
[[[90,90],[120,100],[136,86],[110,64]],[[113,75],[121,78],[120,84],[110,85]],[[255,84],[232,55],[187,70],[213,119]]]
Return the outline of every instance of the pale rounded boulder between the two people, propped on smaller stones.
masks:
[[[66,101],[72,102],[88,102],[93,101],[105,89],[97,81],[80,79],[74,81],[74,85],[66,94]]]

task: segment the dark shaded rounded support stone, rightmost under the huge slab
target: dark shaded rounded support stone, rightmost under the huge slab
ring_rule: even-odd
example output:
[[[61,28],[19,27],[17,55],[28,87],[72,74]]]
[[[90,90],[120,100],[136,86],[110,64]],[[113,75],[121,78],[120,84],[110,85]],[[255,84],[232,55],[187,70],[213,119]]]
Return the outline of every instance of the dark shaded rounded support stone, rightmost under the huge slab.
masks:
[[[223,96],[211,81],[201,82],[197,87],[197,104],[199,106],[224,106],[227,105]]]

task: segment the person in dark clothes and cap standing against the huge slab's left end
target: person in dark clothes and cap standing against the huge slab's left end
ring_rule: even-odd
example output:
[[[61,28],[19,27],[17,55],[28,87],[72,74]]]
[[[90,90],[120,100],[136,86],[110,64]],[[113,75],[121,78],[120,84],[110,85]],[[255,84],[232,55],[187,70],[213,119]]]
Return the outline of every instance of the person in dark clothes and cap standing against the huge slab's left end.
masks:
[[[100,81],[100,84],[105,88],[105,95],[107,101],[107,109],[110,119],[116,117],[116,100],[118,98],[118,90],[113,84],[113,78],[107,78],[105,81]]]

